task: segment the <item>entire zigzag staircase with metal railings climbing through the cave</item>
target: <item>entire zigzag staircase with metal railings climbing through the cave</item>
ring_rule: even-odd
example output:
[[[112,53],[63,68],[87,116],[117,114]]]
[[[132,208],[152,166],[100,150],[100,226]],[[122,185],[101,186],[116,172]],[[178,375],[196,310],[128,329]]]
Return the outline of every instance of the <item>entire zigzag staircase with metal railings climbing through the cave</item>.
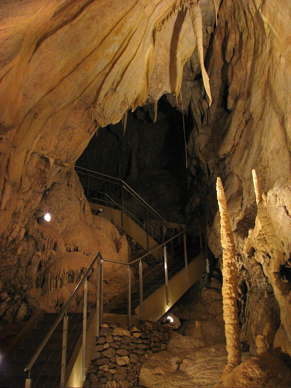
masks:
[[[202,254],[198,255],[200,250],[202,252],[201,235],[200,247],[187,237],[189,227],[174,236],[177,227],[167,223],[123,181],[76,169],[92,209],[106,204],[126,232],[142,236],[140,242],[147,252],[130,263],[103,258],[98,252],[61,313],[38,312],[27,324],[24,334],[19,334],[16,346],[4,355],[0,364],[0,388],[24,388],[24,381],[25,388],[82,387],[102,320],[120,323],[127,319],[129,326],[131,322],[137,324],[138,319],[157,321],[204,272],[205,260]],[[136,236],[134,239],[138,241]],[[155,262],[160,260],[154,270],[145,268],[149,254],[158,259]],[[103,314],[103,265],[106,261],[127,266],[128,292],[105,306]],[[87,277],[95,265],[97,304],[88,318]],[[139,281],[132,285],[131,268],[137,269],[136,266]],[[68,309],[77,294],[80,295],[81,287],[84,287],[83,314],[70,314]]]

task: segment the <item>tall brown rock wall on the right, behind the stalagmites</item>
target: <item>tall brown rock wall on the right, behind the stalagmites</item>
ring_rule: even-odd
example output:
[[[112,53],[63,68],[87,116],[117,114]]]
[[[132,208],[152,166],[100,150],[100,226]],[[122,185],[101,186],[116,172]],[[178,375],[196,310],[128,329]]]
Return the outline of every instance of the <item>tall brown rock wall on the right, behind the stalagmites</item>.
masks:
[[[211,107],[201,97],[201,79],[191,85],[186,79],[182,82],[182,95],[191,96],[195,120],[188,162],[193,174],[197,162],[205,173],[208,242],[215,257],[221,258],[214,198],[215,179],[220,176],[235,237],[240,281],[248,290],[242,325],[251,347],[256,342],[251,327],[258,318],[256,300],[260,295],[263,303],[265,291],[271,299],[274,291],[281,323],[290,338],[290,15],[287,1],[224,0],[205,60]],[[261,192],[267,192],[258,206],[264,208],[261,216],[252,168],[257,170]],[[268,309],[278,311],[278,305],[270,302]],[[270,326],[261,323],[259,329],[270,339],[270,347],[278,318]]]

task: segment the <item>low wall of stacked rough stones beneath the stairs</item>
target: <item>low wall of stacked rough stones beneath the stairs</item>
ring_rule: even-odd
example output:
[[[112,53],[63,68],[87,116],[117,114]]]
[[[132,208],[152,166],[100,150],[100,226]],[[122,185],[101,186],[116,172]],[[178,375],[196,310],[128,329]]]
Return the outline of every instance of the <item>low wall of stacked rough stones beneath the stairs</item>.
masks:
[[[145,322],[130,330],[115,323],[101,325],[84,388],[137,386],[143,362],[166,347],[169,328]]]

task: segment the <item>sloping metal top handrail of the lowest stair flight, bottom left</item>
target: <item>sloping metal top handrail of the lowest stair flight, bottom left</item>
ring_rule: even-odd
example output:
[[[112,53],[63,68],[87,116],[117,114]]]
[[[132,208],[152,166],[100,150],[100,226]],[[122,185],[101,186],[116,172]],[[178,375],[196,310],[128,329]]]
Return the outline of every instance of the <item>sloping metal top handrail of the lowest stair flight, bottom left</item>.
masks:
[[[58,315],[57,319],[55,320],[54,324],[51,326],[48,334],[46,335],[46,337],[42,340],[41,344],[39,345],[39,347],[37,348],[37,350],[35,351],[35,353],[33,354],[33,356],[31,357],[31,359],[29,360],[28,364],[26,365],[26,367],[24,368],[24,372],[30,372],[30,370],[32,369],[35,361],[37,360],[38,356],[40,355],[40,353],[42,352],[43,348],[46,346],[48,340],[50,339],[52,333],[55,331],[56,327],[58,326],[58,324],[62,321],[68,307],[70,306],[71,302],[74,300],[75,296],[77,295],[78,291],[80,290],[80,287],[81,285],[83,284],[83,282],[85,281],[86,277],[89,275],[91,269],[93,268],[93,265],[95,264],[96,260],[97,259],[101,259],[102,260],[102,256],[100,254],[100,252],[97,253],[97,255],[95,256],[95,259],[93,259],[92,263],[89,265],[87,271],[85,272],[85,274],[83,275],[83,277],[81,278],[80,282],[78,283],[77,287],[75,288],[75,290],[73,291],[72,295],[70,296],[70,298],[68,299],[67,303],[65,304],[65,306],[63,307],[62,311],[60,312],[60,314]]]

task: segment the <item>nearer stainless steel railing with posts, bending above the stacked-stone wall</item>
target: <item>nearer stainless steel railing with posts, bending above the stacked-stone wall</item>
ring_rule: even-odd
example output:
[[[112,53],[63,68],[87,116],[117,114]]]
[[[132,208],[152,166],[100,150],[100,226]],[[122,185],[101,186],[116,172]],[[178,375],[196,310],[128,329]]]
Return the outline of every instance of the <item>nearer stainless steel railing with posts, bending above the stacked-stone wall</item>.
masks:
[[[186,232],[189,231],[190,228],[193,226],[189,226],[182,232],[176,234],[175,236],[169,238],[168,240],[162,242],[161,244],[158,244],[156,247],[152,248],[146,254],[141,256],[140,258],[131,261],[130,263],[122,262],[119,260],[113,260],[108,258],[103,258],[100,254],[100,252],[97,253],[96,257],[91,262],[90,266],[86,270],[85,274],[82,276],[79,284],[73,291],[72,295],[66,302],[65,306],[63,307],[62,311],[58,315],[57,319],[53,323],[52,327],[50,328],[48,334],[43,339],[41,344],[39,345],[36,352],[33,354],[32,358],[26,365],[24,372],[28,372],[28,378],[26,379],[25,388],[32,388],[32,379],[31,379],[31,370],[33,365],[35,364],[37,358],[40,356],[42,350],[45,348],[46,344],[48,343],[49,339],[51,338],[53,332],[59,325],[59,323],[64,319],[63,322],[63,348],[62,348],[62,363],[61,363],[61,382],[60,387],[65,387],[66,383],[66,353],[67,353],[67,333],[68,333],[68,316],[67,311],[70,307],[71,303],[77,296],[78,292],[81,290],[81,286],[84,283],[84,298],[83,298],[83,329],[82,329],[82,377],[85,379],[85,359],[86,359],[86,330],[87,330],[87,295],[88,295],[88,276],[92,272],[94,264],[97,262],[97,291],[96,291],[96,337],[99,338],[99,327],[102,324],[102,317],[103,317],[103,263],[104,261],[108,261],[114,264],[118,265],[126,265],[127,266],[127,287],[128,287],[128,327],[131,326],[131,274],[130,274],[130,267],[135,265],[137,262],[139,262],[139,305],[140,305],[140,312],[139,312],[139,319],[142,320],[143,318],[143,302],[144,302],[144,291],[143,291],[143,260],[150,255],[155,250],[161,248],[163,246],[164,248],[164,282],[165,282],[165,293],[166,293],[166,303],[169,305],[169,290],[168,290],[168,255],[167,255],[167,244],[173,242],[174,239],[177,239],[179,236],[183,235],[183,248],[180,248],[180,250],[183,250],[183,257],[184,257],[184,265],[185,265],[185,281],[188,287],[189,280],[188,280],[188,255],[187,255],[187,245],[186,245]],[[200,246],[201,248],[201,246]],[[201,252],[202,253],[202,252]],[[182,260],[183,261],[183,260]],[[181,266],[181,265],[180,265]],[[162,284],[161,284],[162,285]]]

